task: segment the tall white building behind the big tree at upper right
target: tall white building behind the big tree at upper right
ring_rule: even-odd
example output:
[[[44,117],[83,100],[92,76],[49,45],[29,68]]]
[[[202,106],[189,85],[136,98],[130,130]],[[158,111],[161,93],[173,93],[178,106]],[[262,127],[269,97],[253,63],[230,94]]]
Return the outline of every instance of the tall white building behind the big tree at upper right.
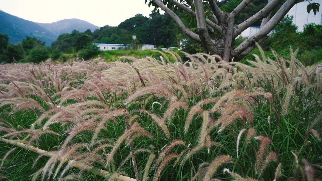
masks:
[[[322,5],[322,0],[312,0],[310,3],[319,3]],[[308,1],[302,1],[295,4],[287,13],[289,16],[293,16],[293,23],[298,26],[298,32],[303,32],[304,25],[309,23],[322,24],[322,11],[320,10],[314,15],[313,11],[307,12],[306,7]],[[248,37],[255,34],[260,29],[259,26],[250,26],[241,33],[242,37]]]

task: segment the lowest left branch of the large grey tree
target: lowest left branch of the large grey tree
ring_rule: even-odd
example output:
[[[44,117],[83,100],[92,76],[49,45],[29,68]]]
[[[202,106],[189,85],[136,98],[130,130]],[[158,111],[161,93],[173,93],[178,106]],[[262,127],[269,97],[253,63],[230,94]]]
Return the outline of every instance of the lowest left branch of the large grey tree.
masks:
[[[156,5],[158,5],[163,11],[166,12],[173,20],[175,20],[175,23],[179,25],[180,30],[185,33],[188,37],[194,39],[195,41],[201,42],[199,35],[192,32],[185,26],[185,24],[181,21],[179,16],[177,16],[173,11],[171,11],[168,7],[166,7],[161,1],[159,0],[153,0]]]

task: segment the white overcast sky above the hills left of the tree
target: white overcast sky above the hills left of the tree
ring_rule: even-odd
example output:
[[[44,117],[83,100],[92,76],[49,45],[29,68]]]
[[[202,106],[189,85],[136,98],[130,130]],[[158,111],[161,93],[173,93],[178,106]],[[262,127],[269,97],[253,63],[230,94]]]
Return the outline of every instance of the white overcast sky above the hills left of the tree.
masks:
[[[148,16],[153,8],[144,0],[0,0],[0,9],[37,23],[77,18],[102,27],[136,14]]]

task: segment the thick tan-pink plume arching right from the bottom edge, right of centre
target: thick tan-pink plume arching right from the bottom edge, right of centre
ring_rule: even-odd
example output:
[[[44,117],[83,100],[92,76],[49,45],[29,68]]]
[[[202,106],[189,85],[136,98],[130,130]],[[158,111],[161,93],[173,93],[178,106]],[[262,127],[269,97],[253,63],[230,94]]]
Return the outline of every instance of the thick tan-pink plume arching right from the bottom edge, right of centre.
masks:
[[[229,155],[219,155],[209,164],[208,169],[204,175],[203,181],[210,181],[213,174],[217,171],[224,163],[229,163],[232,161],[232,157]]]

